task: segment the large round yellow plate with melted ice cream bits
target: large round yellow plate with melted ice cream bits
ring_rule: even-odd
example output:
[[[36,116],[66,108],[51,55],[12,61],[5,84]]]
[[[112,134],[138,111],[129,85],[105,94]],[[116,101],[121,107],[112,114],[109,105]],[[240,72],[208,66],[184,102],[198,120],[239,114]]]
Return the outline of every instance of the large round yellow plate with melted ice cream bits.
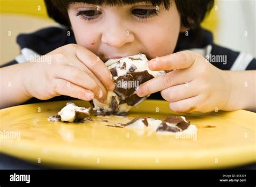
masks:
[[[255,162],[255,113],[191,113],[197,136],[177,137],[105,126],[137,116],[165,119],[177,115],[169,103],[146,100],[127,118],[92,117],[85,123],[49,122],[67,101],[20,105],[0,111],[1,149],[21,159],[61,168],[199,169]],[[88,102],[71,100],[78,106]],[[178,114],[180,116],[180,114]],[[15,136],[16,133],[16,136]],[[20,134],[20,136],[18,135]]]

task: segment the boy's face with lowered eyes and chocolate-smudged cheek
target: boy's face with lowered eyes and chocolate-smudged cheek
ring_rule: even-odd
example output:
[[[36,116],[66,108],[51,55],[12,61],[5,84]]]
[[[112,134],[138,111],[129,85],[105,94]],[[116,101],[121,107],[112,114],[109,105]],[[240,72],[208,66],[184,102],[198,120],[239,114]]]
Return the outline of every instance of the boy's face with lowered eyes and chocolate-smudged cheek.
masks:
[[[144,2],[122,7],[74,3],[68,14],[77,44],[104,62],[138,53],[149,60],[169,55],[182,29],[174,1],[169,10]]]

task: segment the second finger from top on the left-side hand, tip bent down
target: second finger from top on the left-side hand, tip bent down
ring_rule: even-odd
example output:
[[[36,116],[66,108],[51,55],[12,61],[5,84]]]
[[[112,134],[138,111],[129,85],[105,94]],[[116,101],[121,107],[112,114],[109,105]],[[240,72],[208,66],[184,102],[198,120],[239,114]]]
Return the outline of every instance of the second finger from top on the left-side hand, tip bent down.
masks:
[[[56,66],[54,77],[62,78],[63,80],[72,82],[80,87],[91,90],[97,98],[102,98],[103,91],[98,87],[98,84],[83,70],[72,66]]]

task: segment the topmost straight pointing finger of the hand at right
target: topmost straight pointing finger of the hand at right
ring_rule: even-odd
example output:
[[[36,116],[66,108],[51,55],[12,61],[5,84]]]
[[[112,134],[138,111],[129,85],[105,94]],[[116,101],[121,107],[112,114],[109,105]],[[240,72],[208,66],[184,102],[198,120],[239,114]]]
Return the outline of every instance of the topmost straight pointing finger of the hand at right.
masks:
[[[194,61],[196,61],[196,53],[182,51],[150,60],[149,68],[153,71],[184,69],[190,67]]]

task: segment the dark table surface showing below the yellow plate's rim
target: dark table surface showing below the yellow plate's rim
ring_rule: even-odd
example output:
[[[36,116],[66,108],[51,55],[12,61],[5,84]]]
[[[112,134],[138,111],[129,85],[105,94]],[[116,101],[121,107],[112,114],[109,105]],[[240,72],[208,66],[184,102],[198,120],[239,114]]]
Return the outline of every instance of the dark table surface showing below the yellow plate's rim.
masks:
[[[0,169],[56,169],[56,168],[48,168],[43,166],[38,166],[21,159],[17,159],[16,157],[0,154]],[[71,168],[72,169],[72,168]],[[232,167],[225,169],[256,169],[256,163],[247,164],[241,167]]]

